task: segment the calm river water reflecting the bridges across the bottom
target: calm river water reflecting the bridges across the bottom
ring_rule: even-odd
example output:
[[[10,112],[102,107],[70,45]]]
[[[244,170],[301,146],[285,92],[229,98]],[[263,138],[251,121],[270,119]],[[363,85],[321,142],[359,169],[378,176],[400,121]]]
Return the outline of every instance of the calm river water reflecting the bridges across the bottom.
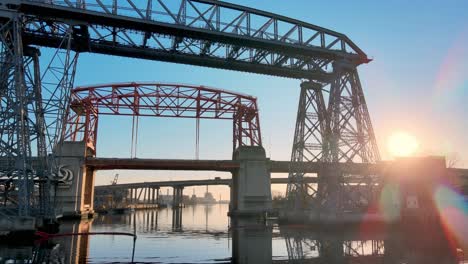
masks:
[[[63,222],[60,233],[123,232],[137,238],[96,234],[12,241],[0,246],[0,263],[463,263],[443,232],[418,239],[365,227],[286,228],[256,219],[230,222],[227,212],[226,204],[195,205]]]

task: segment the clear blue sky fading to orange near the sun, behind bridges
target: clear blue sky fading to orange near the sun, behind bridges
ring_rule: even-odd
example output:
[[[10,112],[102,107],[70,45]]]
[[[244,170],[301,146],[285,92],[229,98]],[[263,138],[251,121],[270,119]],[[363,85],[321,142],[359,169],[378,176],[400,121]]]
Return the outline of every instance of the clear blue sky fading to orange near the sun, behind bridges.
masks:
[[[234,2],[234,1],[232,1]],[[468,1],[235,1],[342,32],[374,61],[359,68],[383,156],[406,131],[421,154],[457,152],[468,166]],[[258,97],[264,145],[288,160],[299,81],[155,61],[82,54],[76,85],[123,81],[202,84]],[[201,158],[231,158],[231,123],[201,121]],[[142,119],[138,157],[193,158],[195,121]],[[98,156],[129,157],[131,119],[100,120]],[[214,173],[119,172],[121,182],[208,178]],[[113,172],[101,172],[97,184]],[[228,175],[225,175],[228,176]],[[191,191],[189,191],[191,193]],[[201,194],[201,189],[197,193]],[[216,193],[215,193],[216,194]]]

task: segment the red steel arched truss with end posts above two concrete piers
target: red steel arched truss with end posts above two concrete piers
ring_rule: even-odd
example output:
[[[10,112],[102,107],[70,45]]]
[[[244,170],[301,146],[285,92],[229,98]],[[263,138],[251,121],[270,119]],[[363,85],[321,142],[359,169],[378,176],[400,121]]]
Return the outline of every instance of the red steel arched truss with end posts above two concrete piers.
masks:
[[[114,83],[72,90],[64,140],[96,150],[100,115],[233,120],[233,149],[261,146],[257,99],[205,86]]]

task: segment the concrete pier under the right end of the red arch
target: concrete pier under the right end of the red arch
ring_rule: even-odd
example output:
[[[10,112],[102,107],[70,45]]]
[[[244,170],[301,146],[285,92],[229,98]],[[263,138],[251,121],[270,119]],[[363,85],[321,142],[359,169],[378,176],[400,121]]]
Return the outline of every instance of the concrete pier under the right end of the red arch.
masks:
[[[233,154],[240,168],[232,174],[230,216],[256,216],[271,211],[271,180],[265,149],[241,146]]]

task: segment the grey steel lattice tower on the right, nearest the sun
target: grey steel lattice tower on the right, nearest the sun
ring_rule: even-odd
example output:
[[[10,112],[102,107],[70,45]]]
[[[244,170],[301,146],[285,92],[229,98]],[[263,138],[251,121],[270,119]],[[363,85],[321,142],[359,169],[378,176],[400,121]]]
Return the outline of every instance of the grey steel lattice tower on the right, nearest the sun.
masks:
[[[296,209],[364,210],[373,196],[372,175],[347,175],[339,163],[380,160],[356,65],[335,62],[330,82],[301,84],[287,197]],[[294,162],[320,162],[317,184]],[[313,175],[315,176],[315,175]],[[350,184],[349,178],[358,179]]]

